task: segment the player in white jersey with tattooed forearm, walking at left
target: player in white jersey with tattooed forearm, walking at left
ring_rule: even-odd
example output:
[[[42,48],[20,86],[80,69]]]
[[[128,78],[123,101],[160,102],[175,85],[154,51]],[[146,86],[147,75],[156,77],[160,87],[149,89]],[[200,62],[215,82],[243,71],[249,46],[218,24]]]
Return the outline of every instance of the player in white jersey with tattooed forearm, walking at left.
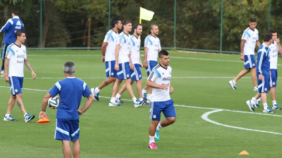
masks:
[[[11,111],[15,105],[17,99],[17,104],[24,114],[24,121],[28,122],[33,119],[34,115],[29,115],[24,109],[24,103],[22,102],[22,87],[24,81],[24,65],[31,71],[33,79],[36,78],[36,74],[32,70],[30,63],[27,60],[26,46],[22,43],[26,40],[26,35],[24,31],[18,30],[15,33],[17,40],[15,43],[10,44],[7,47],[7,52],[5,56],[5,80],[10,83],[11,97],[8,102],[8,110],[4,116],[4,121],[18,121],[11,116]],[[8,73],[9,66],[9,73]]]

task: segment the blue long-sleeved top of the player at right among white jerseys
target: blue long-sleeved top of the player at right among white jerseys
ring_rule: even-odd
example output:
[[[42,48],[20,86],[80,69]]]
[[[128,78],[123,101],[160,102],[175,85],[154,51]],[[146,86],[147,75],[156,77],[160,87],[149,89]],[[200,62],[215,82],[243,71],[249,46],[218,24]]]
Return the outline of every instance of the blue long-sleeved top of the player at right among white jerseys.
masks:
[[[270,58],[269,58],[269,48],[263,43],[258,49],[258,55],[256,58],[256,75],[259,74],[269,75],[270,70]]]

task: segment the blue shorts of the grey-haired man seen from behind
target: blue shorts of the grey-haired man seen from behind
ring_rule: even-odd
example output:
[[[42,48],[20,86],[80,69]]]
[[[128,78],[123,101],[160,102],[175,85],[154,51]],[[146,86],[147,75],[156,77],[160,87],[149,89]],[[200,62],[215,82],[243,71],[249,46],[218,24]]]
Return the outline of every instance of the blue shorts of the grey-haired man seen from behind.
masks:
[[[75,141],[79,134],[79,120],[56,119],[54,139]]]

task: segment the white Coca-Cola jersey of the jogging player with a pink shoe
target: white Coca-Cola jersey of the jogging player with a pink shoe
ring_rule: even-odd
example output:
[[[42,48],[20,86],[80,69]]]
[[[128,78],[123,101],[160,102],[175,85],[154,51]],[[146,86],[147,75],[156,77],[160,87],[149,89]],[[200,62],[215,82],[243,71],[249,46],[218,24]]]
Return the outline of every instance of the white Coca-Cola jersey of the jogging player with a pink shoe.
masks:
[[[165,69],[159,63],[151,71],[148,80],[151,80],[158,85],[164,85],[164,84],[168,85],[167,90],[152,88],[151,101],[170,100],[169,87],[170,87],[171,70],[172,69],[170,66],[167,66],[167,68]]]

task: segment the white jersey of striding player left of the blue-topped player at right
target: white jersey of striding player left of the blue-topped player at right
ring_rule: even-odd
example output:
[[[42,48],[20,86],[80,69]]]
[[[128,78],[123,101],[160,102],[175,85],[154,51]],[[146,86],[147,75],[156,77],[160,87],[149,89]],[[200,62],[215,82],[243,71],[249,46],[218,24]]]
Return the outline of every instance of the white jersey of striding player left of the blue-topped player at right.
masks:
[[[244,44],[244,55],[255,55],[256,41],[258,40],[258,30],[251,30],[249,27],[244,30],[242,38],[246,40]]]

